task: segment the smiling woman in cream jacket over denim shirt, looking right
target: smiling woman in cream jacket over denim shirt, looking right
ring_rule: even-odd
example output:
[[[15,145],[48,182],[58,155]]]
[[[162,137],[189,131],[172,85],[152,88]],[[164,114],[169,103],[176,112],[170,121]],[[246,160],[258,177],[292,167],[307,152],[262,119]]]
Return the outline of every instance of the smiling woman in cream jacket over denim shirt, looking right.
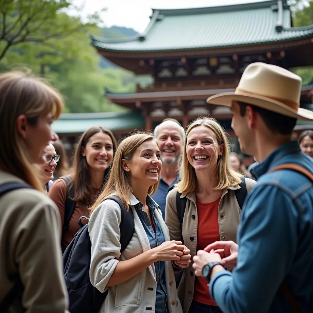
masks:
[[[159,183],[162,162],[156,140],[150,134],[126,137],[113,160],[109,181],[91,208],[90,281],[108,295],[100,313],[181,313],[171,261],[190,263],[187,247],[169,241],[159,206],[150,194]],[[135,231],[121,254],[121,208],[132,210]],[[185,259],[183,259],[185,258]]]

